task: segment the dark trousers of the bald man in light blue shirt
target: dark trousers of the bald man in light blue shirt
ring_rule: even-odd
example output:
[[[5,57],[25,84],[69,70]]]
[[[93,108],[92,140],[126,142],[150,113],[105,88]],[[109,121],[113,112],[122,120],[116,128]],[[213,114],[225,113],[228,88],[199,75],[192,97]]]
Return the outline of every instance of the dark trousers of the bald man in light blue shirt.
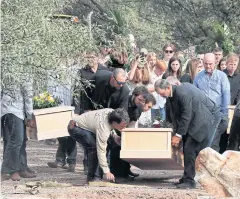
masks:
[[[224,134],[224,132],[226,132],[228,128],[228,117],[227,116],[223,116],[219,125],[218,125],[218,128],[217,128],[217,131],[216,131],[216,134],[213,138],[213,141],[212,141],[212,145],[211,145],[211,148],[217,152],[220,152],[220,140],[221,140],[221,136]]]

